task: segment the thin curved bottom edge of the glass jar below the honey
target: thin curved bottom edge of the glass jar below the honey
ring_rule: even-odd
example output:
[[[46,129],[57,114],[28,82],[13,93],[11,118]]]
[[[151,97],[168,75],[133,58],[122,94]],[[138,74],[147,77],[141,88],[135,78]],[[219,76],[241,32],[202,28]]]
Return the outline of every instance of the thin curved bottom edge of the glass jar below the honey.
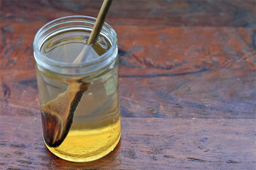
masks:
[[[67,161],[73,161],[73,162],[89,162],[89,161],[95,161],[95,160],[97,160],[97,159],[100,159],[100,158],[102,158],[103,156],[108,155],[108,153],[110,153],[111,151],[113,151],[114,148],[116,147],[116,145],[118,144],[118,142],[119,142],[119,140],[120,140],[120,137],[121,137],[121,133],[119,134],[119,137],[118,137],[118,139],[116,140],[116,142],[115,142],[110,148],[108,148],[108,150],[105,150],[105,152],[103,152],[101,155],[96,156],[96,157],[93,157],[93,158],[90,158],[90,159],[86,159],[86,158],[84,158],[84,159],[70,159],[70,158],[61,156],[60,154],[58,154],[58,153],[52,151],[52,150],[51,150],[51,147],[47,146],[47,144],[46,144],[45,142],[44,142],[44,143],[45,143],[46,147],[47,147],[54,155],[58,156],[58,157],[61,158],[61,159],[65,159],[65,160],[67,160]]]

